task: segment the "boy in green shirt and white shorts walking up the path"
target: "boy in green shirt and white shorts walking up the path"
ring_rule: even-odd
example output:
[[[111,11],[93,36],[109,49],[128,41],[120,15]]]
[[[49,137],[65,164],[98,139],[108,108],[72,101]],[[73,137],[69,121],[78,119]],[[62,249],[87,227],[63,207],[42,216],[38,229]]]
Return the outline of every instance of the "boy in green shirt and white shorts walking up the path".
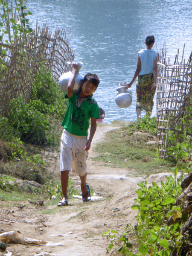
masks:
[[[64,127],[61,136],[60,173],[62,200],[58,206],[68,205],[67,186],[69,172],[77,172],[81,180],[81,193],[84,202],[90,200],[89,186],[86,185],[87,165],[86,158],[90,149],[91,141],[96,131],[96,119],[100,118],[99,106],[92,98],[92,94],[99,85],[96,74],[87,73],[81,82],[81,90],[73,92],[78,62],[72,63],[72,74],[68,82],[67,93],[69,105],[61,125]],[[89,119],[91,118],[90,135],[87,140]]]

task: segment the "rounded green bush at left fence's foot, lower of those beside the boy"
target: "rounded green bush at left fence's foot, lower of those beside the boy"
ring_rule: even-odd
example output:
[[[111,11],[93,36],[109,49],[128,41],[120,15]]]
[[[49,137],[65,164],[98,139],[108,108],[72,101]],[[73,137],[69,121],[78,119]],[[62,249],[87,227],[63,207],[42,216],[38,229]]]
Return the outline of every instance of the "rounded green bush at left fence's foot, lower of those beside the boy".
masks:
[[[22,96],[10,104],[9,122],[19,132],[22,141],[32,144],[45,144],[49,120],[35,107],[24,102]]]

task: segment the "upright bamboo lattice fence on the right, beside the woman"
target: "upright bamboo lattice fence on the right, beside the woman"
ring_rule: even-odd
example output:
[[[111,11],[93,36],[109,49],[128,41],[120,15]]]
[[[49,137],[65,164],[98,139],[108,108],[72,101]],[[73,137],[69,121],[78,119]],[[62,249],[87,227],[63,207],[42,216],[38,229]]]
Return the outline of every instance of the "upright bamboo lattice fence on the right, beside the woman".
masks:
[[[159,157],[168,157],[167,148],[171,146],[168,141],[170,131],[176,137],[183,133],[183,125],[192,136],[192,53],[188,61],[184,59],[184,47],[179,61],[179,49],[175,55],[174,64],[170,58],[166,59],[164,46],[158,62],[158,88],[157,88],[157,139]],[[186,124],[182,118],[185,116]],[[190,132],[189,132],[190,131]]]

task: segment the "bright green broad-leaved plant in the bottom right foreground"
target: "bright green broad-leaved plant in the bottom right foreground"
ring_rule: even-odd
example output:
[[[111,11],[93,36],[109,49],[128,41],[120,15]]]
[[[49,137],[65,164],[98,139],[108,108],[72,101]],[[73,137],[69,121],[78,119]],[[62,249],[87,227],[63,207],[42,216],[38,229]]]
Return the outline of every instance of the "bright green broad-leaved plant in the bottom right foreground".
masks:
[[[103,233],[110,239],[108,252],[116,244],[123,255],[169,256],[173,251],[180,253],[181,246],[188,243],[188,238],[180,232],[186,221],[186,212],[182,202],[175,204],[182,192],[181,177],[176,178],[177,168],[171,171],[173,176],[167,176],[167,181],[161,182],[161,186],[153,182],[147,187],[146,181],[138,184],[138,198],[131,207],[138,210],[137,225],[134,229],[128,225],[122,235],[114,230]],[[173,224],[167,225],[170,217]]]

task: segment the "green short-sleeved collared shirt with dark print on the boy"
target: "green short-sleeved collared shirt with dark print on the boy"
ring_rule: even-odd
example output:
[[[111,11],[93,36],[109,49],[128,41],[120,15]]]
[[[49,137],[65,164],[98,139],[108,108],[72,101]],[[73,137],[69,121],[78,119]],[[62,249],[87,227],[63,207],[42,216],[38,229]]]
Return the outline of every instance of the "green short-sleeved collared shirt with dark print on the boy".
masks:
[[[65,94],[65,98],[68,98],[69,105],[61,126],[70,134],[87,136],[89,119],[100,118],[99,106],[91,97],[79,101],[78,96],[79,94],[73,93],[73,96],[68,98],[67,93]]]

